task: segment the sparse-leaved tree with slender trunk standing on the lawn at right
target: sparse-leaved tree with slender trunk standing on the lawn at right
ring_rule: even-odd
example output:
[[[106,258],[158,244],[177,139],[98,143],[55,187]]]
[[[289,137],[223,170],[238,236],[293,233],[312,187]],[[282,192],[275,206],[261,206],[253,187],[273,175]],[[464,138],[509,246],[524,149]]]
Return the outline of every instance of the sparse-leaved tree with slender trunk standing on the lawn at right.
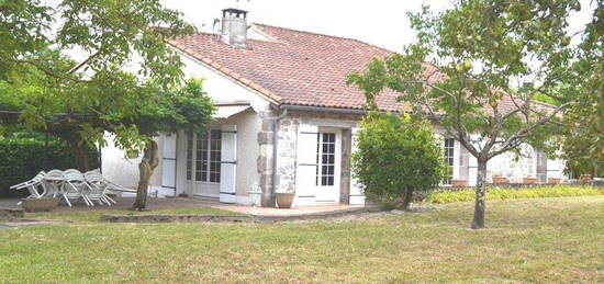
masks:
[[[545,146],[548,128],[559,125],[578,93],[575,50],[564,29],[570,11],[579,9],[575,0],[458,1],[439,14],[424,7],[410,14],[416,43],[349,76],[368,106],[376,109],[387,88],[400,92],[399,100],[436,120],[476,157],[471,228],[484,227],[486,162],[523,144]],[[535,95],[562,103],[537,103]]]

